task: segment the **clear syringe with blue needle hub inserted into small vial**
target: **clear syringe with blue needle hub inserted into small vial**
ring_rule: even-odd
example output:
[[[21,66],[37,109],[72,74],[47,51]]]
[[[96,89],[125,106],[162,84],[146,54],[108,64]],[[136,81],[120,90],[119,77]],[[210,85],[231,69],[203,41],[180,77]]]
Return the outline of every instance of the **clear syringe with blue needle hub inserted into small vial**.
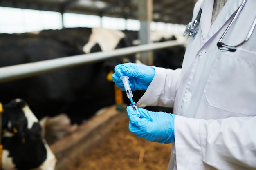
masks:
[[[137,113],[137,115],[140,117],[138,107],[137,107],[136,103],[133,102],[133,99],[132,99],[133,94],[132,94],[132,89],[130,87],[130,84],[128,82],[129,77],[124,75],[124,76],[121,76],[120,79],[123,81],[126,95],[127,95],[128,99],[130,99],[130,101],[131,101],[130,105],[132,106],[133,110]]]

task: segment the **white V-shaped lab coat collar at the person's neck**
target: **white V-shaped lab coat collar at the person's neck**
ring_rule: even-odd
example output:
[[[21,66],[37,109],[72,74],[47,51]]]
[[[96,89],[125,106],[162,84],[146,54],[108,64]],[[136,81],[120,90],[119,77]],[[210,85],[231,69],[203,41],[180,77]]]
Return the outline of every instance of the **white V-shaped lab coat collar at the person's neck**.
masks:
[[[229,20],[231,15],[233,15],[236,12],[236,10],[242,4],[243,0],[228,0],[211,26],[213,2],[214,0],[205,0],[202,7],[202,15],[200,22],[204,43],[207,42],[217,31],[220,30],[220,28],[225,24],[225,22]]]

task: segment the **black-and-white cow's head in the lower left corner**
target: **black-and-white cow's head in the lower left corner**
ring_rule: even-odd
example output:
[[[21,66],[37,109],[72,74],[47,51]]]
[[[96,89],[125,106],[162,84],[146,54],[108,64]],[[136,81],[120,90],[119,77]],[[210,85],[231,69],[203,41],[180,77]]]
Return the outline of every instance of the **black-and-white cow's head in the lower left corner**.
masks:
[[[44,138],[44,128],[22,99],[2,105],[2,169],[54,170],[56,157]]]

